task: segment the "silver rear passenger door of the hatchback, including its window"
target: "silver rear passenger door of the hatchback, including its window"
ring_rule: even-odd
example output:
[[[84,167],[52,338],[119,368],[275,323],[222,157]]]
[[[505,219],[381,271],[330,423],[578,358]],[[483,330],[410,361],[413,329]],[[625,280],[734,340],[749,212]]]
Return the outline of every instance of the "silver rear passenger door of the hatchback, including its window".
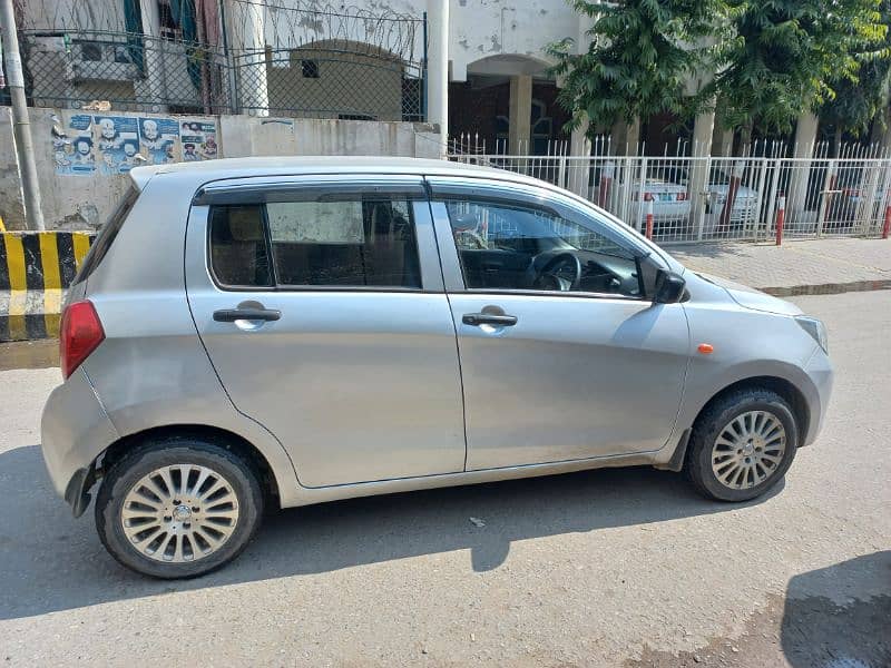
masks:
[[[208,187],[187,257],[214,367],[301,484],[463,470],[454,325],[420,178]]]

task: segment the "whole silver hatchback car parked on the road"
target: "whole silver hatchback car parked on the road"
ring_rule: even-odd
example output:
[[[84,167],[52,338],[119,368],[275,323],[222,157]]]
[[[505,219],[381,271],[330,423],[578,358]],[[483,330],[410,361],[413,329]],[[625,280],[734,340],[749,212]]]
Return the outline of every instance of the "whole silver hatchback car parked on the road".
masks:
[[[823,325],[495,169],[388,158],[138,167],[71,287],[56,490],[159,578],[265,509],[598,466],[745,501],[820,431]]]

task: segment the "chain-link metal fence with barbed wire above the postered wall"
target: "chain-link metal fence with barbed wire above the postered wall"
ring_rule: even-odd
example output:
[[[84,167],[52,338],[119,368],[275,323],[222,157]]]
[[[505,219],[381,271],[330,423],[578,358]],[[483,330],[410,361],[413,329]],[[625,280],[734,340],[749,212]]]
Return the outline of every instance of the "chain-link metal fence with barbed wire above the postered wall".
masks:
[[[101,30],[89,24],[88,14],[65,13],[52,29],[25,26],[29,104],[425,119],[424,18],[257,0],[232,0],[228,7],[228,27],[221,17],[213,31],[197,33],[194,18],[190,31],[163,28],[160,36],[114,29],[119,17],[99,21],[110,28]]]

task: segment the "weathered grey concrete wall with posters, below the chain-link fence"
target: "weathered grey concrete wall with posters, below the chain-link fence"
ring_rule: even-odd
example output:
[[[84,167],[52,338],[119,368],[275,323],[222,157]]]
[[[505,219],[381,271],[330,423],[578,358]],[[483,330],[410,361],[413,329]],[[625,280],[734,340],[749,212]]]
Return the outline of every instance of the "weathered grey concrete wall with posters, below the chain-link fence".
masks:
[[[70,129],[77,111],[33,108],[31,131],[47,229],[97,229],[111,214],[129,185],[126,173],[105,174],[100,156],[97,168],[86,175],[65,174],[57,166],[58,137],[53,126],[76,143],[78,132]],[[84,114],[82,111],[80,114]],[[94,112],[95,114],[95,112]],[[217,157],[243,156],[414,156],[438,157],[433,126],[412,122],[372,122],[358,120],[315,120],[254,118],[247,116],[163,116],[110,111],[96,114],[118,118],[158,118],[213,124],[216,128]],[[53,120],[53,116],[58,120]],[[95,136],[95,135],[94,135]],[[98,144],[98,143],[97,143]],[[180,141],[182,144],[182,141]],[[61,150],[71,151],[71,144]],[[96,149],[95,149],[96,150]],[[150,160],[150,154],[140,149]],[[182,147],[174,151],[182,159]],[[72,154],[60,156],[70,161]],[[7,229],[25,229],[21,188],[12,141],[12,115],[0,107],[0,217]]]

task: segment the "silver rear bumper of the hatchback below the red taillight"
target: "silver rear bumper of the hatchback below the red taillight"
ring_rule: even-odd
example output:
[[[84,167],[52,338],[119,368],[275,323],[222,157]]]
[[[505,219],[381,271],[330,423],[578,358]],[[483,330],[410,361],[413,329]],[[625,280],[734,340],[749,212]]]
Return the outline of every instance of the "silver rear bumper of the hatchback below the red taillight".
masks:
[[[52,487],[79,514],[86,508],[79,505],[92,484],[96,458],[118,438],[82,369],[49,395],[40,432]]]

